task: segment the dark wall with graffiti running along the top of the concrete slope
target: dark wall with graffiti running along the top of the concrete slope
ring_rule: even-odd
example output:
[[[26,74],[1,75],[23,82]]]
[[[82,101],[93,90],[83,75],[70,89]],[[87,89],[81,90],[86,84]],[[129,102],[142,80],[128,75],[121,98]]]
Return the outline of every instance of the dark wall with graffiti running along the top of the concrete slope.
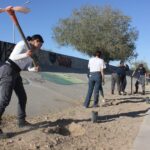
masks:
[[[15,45],[0,41],[0,61],[4,62]],[[66,56],[50,51],[40,50],[36,56],[41,66],[41,71],[62,71],[62,72],[88,72],[88,60]],[[110,74],[117,69],[116,66],[107,65],[106,74]],[[131,73],[130,73],[131,74]]]

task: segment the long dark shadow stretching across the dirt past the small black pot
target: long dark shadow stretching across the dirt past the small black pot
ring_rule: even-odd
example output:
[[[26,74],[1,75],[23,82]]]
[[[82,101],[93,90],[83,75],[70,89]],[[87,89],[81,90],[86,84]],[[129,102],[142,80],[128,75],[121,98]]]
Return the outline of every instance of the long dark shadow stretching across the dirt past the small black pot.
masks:
[[[126,112],[126,113],[118,113],[118,114],[113,114],[113,115],[103,115],[103,116],[98,116],[97,117],[97,122],[96,123],[105,123],[105,122],[110,122],[110,121],[115,121],[116,119],[120,117],[143,117],[146,115],[146,112],[149,109],[146,110],[140,110],[140,111],[131,111],[131,112]],[[58,119],[54,122],[51,121],[43,121],[43,122],[38,122],[33,124],[33,126],[29,129],[25,129],[23,131],[19,132],[14,132],[11,133],[11,137],[18,136],[21,134],[25,134],[27,132],[31,132],[33,130],[37,130],[39,128],[50,128],[50,127],[59,127],[59,134],[62,134],[63,136],[69,135],[69,131],[67,131],[67,126],[70,125],[71,123],[79,123],[79,122],[89,122],[91,121],[91,118],[87,119]],[[55,133],[55,132],[54,132]]]

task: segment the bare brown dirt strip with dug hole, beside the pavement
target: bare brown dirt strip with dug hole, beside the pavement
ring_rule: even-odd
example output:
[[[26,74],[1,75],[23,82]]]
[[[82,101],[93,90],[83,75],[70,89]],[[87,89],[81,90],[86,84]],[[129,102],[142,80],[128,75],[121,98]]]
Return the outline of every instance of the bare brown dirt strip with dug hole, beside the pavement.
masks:
[[[131,150],[134,139],[150,104],[146,95],[111,95],[105,92],[106,103],[99,108],[72,108],[28,118],[32,128],[19,129],[16,118],[5,116],[4,132],[13,132],[10,139],[0,140],[1,150]],[[91,102],[92,103],[92,102]],[[96,123],[92,111],[98,111]]]

